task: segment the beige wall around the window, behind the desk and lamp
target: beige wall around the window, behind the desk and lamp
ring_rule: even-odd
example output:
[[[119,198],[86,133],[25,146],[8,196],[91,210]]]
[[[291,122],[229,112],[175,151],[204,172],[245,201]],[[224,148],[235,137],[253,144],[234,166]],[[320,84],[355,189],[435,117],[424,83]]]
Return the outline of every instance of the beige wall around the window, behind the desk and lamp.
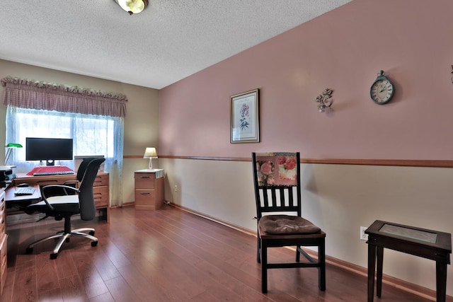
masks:
[[[125,156],[140,156],[143,155],[144,149],[147,146],[158,147],[159,91],[155,89],[0,59],[0,79],[5,76],[123,93],[127,95],[129,100],[127,102],[127,115],[125,117]],[[0,95],[3,95],[3,91],[3,86],[0,86]],[[6,107],[0,106],[0,120],[4,121],[5,115]],[[0,141],[5,142],[4,122],[0,123]],[[0,150],[0,156],[4,158],[5,150],[4,148]],[[143,158],[125,159],[122,175],[123,202],[132,202],[134,200],[134,170],[147,168],[147,165],[148,161]]]

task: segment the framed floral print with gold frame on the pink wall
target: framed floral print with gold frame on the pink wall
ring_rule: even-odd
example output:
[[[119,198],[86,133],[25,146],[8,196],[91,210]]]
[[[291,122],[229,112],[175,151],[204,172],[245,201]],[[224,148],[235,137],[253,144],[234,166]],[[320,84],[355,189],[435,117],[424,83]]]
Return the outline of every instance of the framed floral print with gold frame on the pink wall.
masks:
[[[259,91],[231,95],[230,143],[260,141]]]

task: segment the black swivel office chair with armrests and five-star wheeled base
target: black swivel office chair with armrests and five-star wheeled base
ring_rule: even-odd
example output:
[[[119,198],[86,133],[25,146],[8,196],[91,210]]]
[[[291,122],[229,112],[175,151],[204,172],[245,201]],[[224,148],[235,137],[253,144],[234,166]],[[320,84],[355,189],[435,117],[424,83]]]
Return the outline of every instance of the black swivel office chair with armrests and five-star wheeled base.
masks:
[[[88,238],[91,240],[91,246],[96,246],[98,244],[98,238],[94,237],[94,228],[78,228],[76,230],[71,230],[71,216],[80,214],[81,219],[86,221],[92,220],[94,216],[96,216],[96,207],[93,197],[93,183],[103,161],[105,161],[105,158],[91,158],[91,161],[88,160],[86,165],[79,167],[79,170],[85,169],[85,173],[78,188],[67,185],[47,185],[42,187],[43,200],[25,207],[25,213],[30,215],[38,211],[40,213],[44,213],[46,217],[55,217],[55,220],[57,221],[64,219],[64,231],[31,243],[28,245],[26,250],[27,253],[33,252],[33,247],[38,243],[59,238],[52,254],[50,254],[50,259],[55,259],[57,258],[63,243],[65,241],[69,242],[70,236],[83,236]],[[46,197],[46,190],[52,190],[52,188],[55,187],[64,188],[66,190],[76,192],[76,194],[63,194],[60,196]],[[84,233],[87,231],[88,233]]]

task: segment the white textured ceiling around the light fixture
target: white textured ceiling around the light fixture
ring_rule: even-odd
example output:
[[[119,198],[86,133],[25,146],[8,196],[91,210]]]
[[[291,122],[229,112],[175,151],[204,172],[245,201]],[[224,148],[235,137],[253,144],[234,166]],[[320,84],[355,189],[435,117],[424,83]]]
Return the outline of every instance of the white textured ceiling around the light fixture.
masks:
[[[350,1],[1,0],[0,59],[159,89]]]

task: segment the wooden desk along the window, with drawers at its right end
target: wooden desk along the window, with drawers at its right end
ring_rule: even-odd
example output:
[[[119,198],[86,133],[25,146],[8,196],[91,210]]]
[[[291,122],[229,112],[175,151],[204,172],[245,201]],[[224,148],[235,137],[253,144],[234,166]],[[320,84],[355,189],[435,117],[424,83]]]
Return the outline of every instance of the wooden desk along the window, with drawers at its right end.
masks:
[[[25,173],[17,173],[11,185],[27,183],[28,185],[62,185],[67,181],[75,181],[76,174],[66,175],[42,175],[30,176]],[[109,174],[107,172],[99,172],[93,184],[94,203],[96,209],[103,212],[103,216],[107,222],[110,222],[110,186]]]

